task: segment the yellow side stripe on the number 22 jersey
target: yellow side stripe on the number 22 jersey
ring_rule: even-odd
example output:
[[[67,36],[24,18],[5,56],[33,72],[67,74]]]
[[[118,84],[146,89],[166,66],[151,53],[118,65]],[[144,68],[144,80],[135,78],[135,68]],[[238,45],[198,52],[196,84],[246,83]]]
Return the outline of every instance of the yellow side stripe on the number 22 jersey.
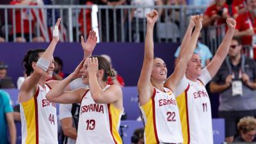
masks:
[[[145,143],[157,143],[155,131],[154,131],[154,117],[153,117],[153,105],[152,99],[146,104],[141,106],[143,113],[146,116],[147,122],[145,123]]]

